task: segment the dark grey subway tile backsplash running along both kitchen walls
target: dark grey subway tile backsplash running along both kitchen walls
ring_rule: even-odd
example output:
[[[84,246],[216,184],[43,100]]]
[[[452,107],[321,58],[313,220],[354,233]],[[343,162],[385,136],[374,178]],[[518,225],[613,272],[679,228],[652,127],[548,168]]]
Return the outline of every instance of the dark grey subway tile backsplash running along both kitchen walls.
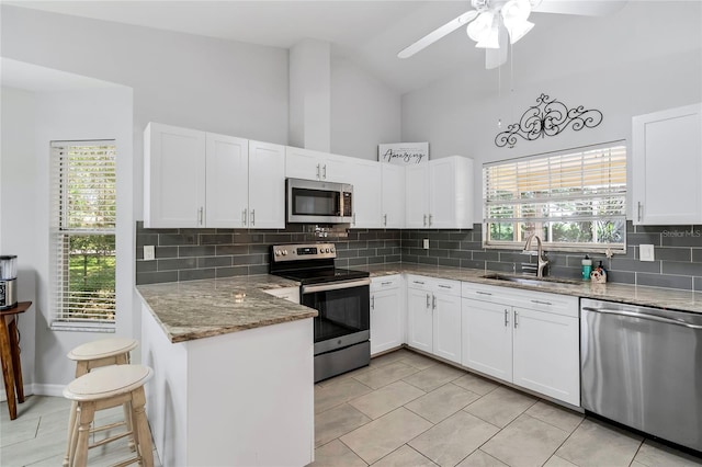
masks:
[[[702,226],[642,227],[626,224],[627,252],[611,260],[591,255],[595,265],[602,261],[608,281],[702,291]],[[192,281],[265,274],[269,247],[320,240],[337,246],[337,265],[353,267],[381,263],[422,263],[456,267],[520,272],[530,257],[520,251],[482,248],[482,225],[473,229],[352,229],[348,237],[319,239],[299,225],[279,230],[246,229],[145,229],[136,225],[136,282]],[[422,240],[429,239],[429,249]],[[655,247],[655,261],[642,262],[638,246]],[[154,244],[155,261],[144,261],[143,247]],[[584,254],[548,252],[550,274],[578,278]]]

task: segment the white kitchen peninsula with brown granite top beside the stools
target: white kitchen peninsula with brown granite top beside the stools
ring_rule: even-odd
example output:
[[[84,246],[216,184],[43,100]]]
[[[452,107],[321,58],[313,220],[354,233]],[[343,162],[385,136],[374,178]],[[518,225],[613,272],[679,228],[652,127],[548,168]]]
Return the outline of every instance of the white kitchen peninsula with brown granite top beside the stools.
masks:
[[[307,465],[313,318],[275,276],[139,285],[147,412],[162,465]]]

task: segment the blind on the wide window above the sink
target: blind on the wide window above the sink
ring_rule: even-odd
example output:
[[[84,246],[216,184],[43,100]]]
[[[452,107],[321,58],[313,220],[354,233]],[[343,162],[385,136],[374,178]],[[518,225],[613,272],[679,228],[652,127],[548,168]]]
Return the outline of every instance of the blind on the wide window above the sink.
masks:
[[[519,248],[534,232],[552,250],[625,249],[621,143],[486,163],[483,187],[486,247]]]

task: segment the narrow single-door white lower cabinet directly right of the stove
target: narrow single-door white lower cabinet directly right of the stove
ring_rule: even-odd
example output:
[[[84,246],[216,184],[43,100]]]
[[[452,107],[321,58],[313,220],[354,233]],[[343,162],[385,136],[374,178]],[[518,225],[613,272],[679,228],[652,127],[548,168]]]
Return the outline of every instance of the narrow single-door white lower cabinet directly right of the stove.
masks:
[[[374,277],[371,282],[371,355],[405,342],[404,287],[400,275]]]

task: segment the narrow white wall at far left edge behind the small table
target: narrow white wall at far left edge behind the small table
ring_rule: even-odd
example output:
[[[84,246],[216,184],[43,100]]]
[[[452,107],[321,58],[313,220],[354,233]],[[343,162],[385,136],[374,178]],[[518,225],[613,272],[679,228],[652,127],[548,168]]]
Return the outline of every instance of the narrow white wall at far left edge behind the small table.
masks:
[[[36,99],[16,89],[0,90],[0,254],[18,255],[20,301],[34,304],[20,315],[22,378],[25,394],[34,381],[36,283],[39,253],[37,226],[38,198],[35,193],[37,161],[34,157]],[[2,389],[4,399],[4,389]]]

